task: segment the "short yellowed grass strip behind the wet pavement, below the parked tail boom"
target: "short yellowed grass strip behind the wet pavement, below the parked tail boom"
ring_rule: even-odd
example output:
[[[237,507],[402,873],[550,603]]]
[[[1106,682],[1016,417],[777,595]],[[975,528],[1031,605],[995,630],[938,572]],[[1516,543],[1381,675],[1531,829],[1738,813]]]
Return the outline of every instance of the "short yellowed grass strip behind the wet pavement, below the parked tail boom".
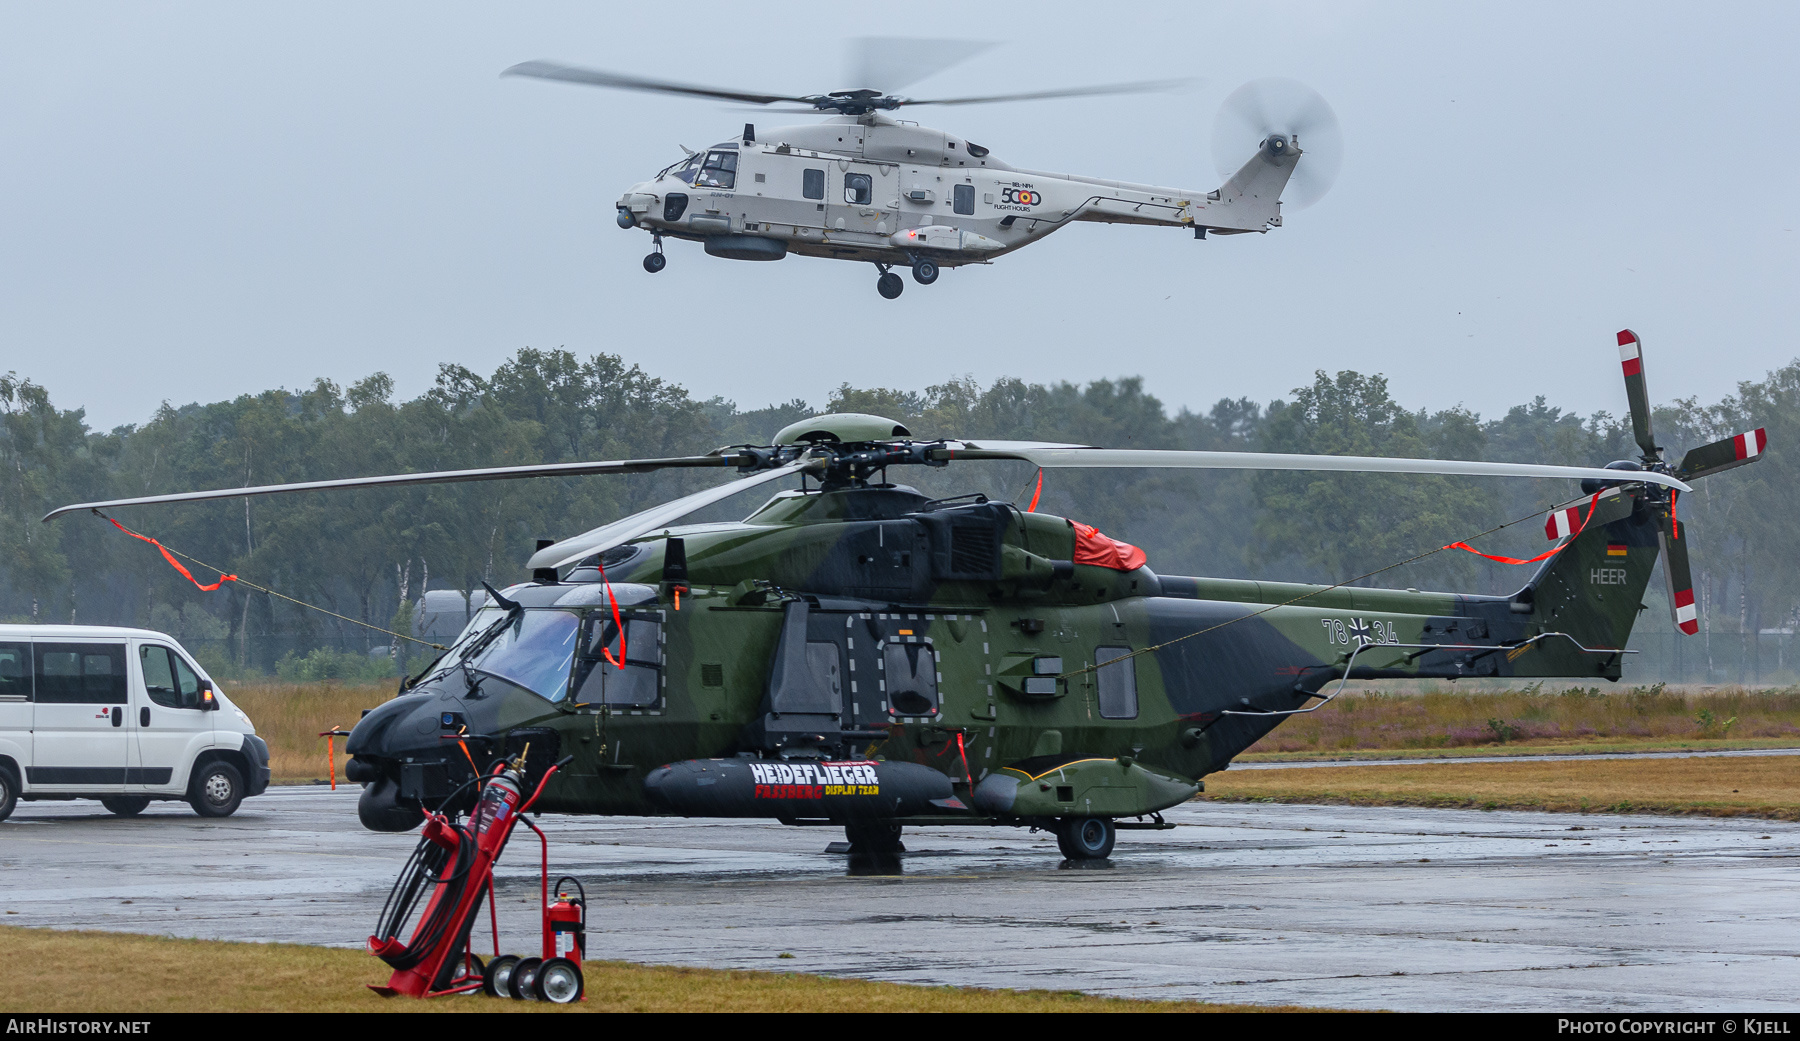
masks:
[[[1201,798],[1795,821],[1800,765],[1787,756],[1723,756],[1224,771],[1206,778]]]

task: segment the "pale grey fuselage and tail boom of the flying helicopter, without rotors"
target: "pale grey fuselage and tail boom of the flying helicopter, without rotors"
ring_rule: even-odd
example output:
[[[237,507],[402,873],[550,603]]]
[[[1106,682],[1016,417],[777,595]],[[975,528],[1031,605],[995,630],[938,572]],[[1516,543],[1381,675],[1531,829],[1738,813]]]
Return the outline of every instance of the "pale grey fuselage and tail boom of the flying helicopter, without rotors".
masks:
[[[918,274],[920,261],[988,263],[1078,220],[1197,236],[1280,227],[1282,189],[1300,155],[1298,140],[1271,135],[1219,189],[1157,187],[1019,169],[952,133],[871,112],[745,124],[738,140],[632,186],[617,211],[621,227],[650,231],[659,243],[702,241],[727,259],[794,252]]]

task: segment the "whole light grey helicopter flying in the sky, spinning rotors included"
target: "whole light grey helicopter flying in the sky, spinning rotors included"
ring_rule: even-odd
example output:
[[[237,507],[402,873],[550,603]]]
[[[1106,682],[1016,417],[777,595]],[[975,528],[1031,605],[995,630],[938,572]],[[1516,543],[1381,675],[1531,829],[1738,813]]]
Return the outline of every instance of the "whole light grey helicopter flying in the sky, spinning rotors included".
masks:
[[[851,63],[853,88],[828,94],[698,86],[558,61],[526,61],[502,76],[828,115],[797,126],[745,122],[731,140],[698,151],[684,146],[684,158],[628,187],[617,200],[617,223],[650,232],[644,270],[652,274],[668,265],[662,241],[677,238],[725,259],[778,261],[792,252],[871,263],[880,295],[896,299],[905,283],[893,268],[909,267],[913,281],[932,285],[943,268],[994,263],[1075,222],[1177,227],[1193,238],[1267,232],[1282,225],[1282,193],[1296,173],[1300,202],[1310,205],[1337,166],[1330,104],[1300,83],[1267,79],[1226,99],[1213,135],[1226,180],[1211,191],[1015,167],[983,144],[895,113],[920,104],[1141,94],[1179,81],[914,99],[895,90],[983,45],[857,43],[862,59]]]

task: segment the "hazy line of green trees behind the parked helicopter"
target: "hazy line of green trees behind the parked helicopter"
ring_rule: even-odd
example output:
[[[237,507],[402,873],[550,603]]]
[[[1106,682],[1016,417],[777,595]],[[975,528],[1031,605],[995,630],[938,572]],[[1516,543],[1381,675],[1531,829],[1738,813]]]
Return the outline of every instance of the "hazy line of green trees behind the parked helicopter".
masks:
[[[356,621],[412,632],[427,589],[518,580],[536,539],[574,535],[722,477],[531,479],[117,511],[122,524],[211,566],[194,567],[202,582],[218,571],[241,575],[338,618],[234,584],[202,593],[155,548],[94,517],[38,519],[67,502],[196,488],[695,454],[769,443],[794,420],[839,411],[891,416],[920,438],[1566,465],[1636,456],[1629,418],[1564,412],[1543,398],[1498,418],[1462,407],[1409,409],[1393,400],[1382,376],[1354,371],[1319,371],[1291,398],[1220,398],[1204,411],[1168,409],[1141,378],[1087,385],[959,378],[923,389],[844,384],[819,407],[792,400],[742,409],[725,398],[697,400],[616,355],[526,348],[490,375],[439,366],[432,387],[410,400],[396,400],[392,378],[374,373],[349,387],[317,380],[302,391],[229,402],[164,402],[148,421],[112,430],[94,430],[79,405],[61,405],[27,376],[0,376],[0,618],[148,625],[209,647],[209,668],[245,672],[274,670],[317,647],[367,652],[389,645]],[[1800,439],[1800,360],[1714,403],[1663,405],[1654,423],[1672,459],[1753,427],[1769,432],[1764,461],[1705,481],[1679,508],[1694,533],[1696,591],[1708,625],[1708,665],[1697,668],[1712,679],[1773,668],[1762,661],[1768,639],[1755,634],[1791,629],[1800,605],[1791,461]],[[1035,490],[1035,470],[1022,463],[896,472],[895,479],[931,495],[985,492],[1021,506]],[[1480,546],[1534,557],[1544,548],[1537,513],[1573,495],[1562,481],[1053,470],[1039,508],[1143,546],[1150,566],[1170,575],[1510,593],[1528,569],[1460,551],[1391,566],[1507,520],[1521,522]],[[704,519],[743,515],[758,502],[727,501]],[[1640,630],[1669,632],[1660,584],[1647,607]],[[1714,675],[1714,657],[1739,675]],[[1685,661],[1681,668],[1692,674],[1699,659]]]

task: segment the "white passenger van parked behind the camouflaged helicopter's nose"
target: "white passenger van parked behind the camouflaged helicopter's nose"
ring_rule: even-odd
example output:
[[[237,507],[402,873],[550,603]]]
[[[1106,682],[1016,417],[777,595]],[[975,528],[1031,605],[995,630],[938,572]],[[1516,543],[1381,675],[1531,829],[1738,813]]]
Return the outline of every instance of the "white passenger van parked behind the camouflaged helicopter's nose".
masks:
[[[18,800],[79,798],[119,816],[184,800],[223,818],[266,787],[250,717],[173,638],[0,625],[0,821]]]

